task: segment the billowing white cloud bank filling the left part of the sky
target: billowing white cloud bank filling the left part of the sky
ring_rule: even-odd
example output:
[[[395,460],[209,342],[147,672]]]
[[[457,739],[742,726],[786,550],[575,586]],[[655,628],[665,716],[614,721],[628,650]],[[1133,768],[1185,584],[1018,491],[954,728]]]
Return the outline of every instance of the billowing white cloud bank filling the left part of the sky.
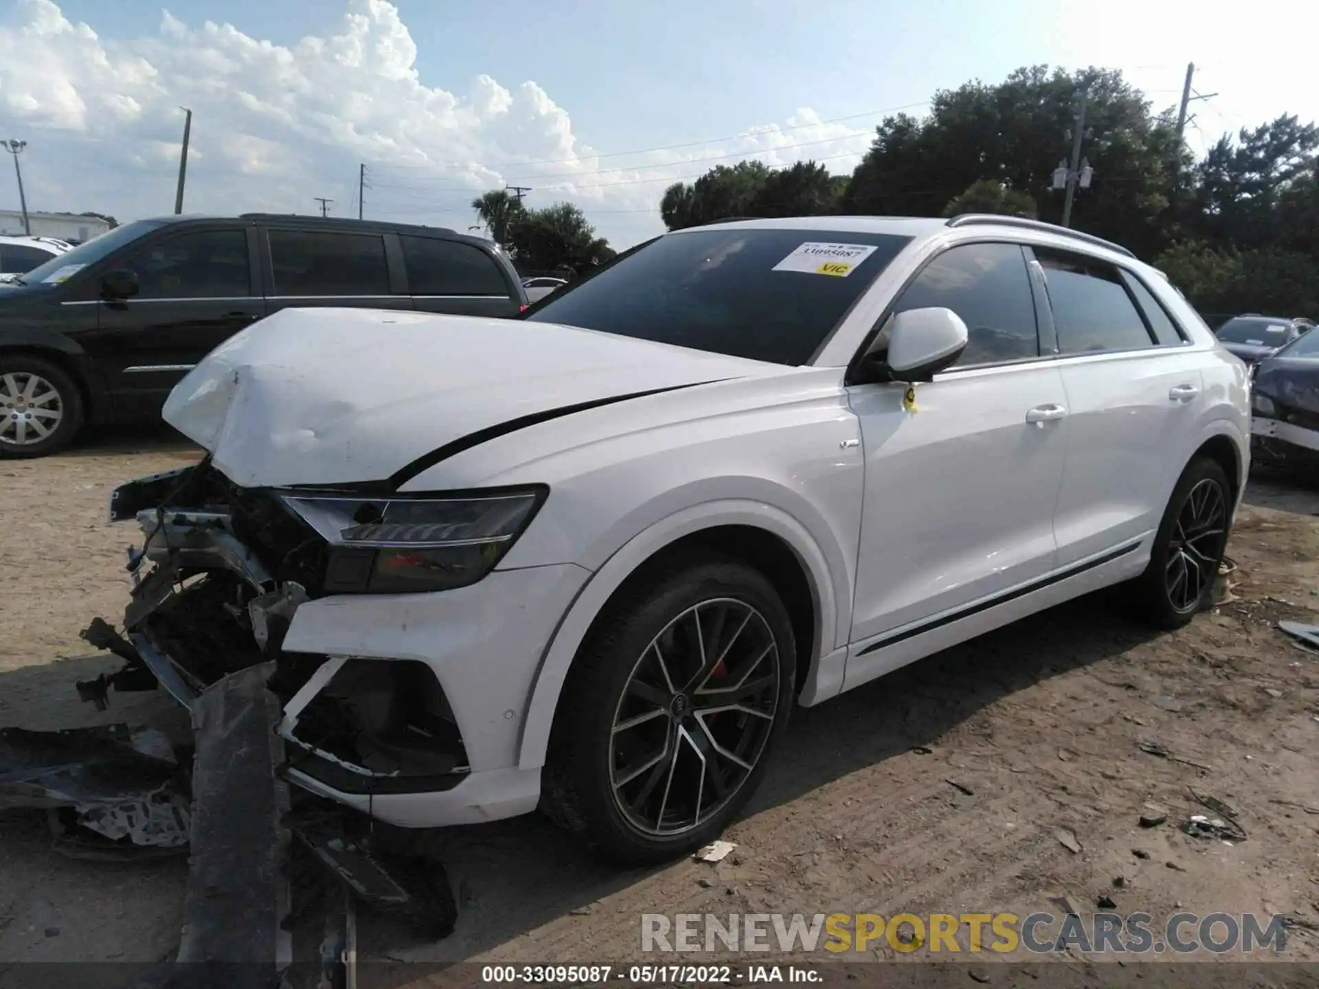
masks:
[[[480,75],[462,95],[427,86],[417,44],[385,0],[346,0],[339,22],[319,29],[281,46],[165,11],[153,36],[104,38],[53,0],[20,0],[0,18],[0,117],[29,141],[29,206],[120,219],[169,211],[185,105],[190,211],[311,212],[311,196],[326,195],[335,212],[355,212],[364,161],[368,216],[463,228],[474,195],[521,183],[534,186],[533,204],[578,202],[621,247],[662,228],[648,211],[677,178],[751,153],[849,170],[873,125],[802,108],[736,138],[601,156],[534,82]]]

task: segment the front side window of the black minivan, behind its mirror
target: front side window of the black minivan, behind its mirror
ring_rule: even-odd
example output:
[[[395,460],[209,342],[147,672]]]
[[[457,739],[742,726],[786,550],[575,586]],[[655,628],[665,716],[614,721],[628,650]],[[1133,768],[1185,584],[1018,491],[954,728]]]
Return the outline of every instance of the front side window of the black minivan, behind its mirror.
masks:
[[[140,299],[241,298],[252,294],[247,232],[206,229],[158,241],[115,268],[137,276]]]

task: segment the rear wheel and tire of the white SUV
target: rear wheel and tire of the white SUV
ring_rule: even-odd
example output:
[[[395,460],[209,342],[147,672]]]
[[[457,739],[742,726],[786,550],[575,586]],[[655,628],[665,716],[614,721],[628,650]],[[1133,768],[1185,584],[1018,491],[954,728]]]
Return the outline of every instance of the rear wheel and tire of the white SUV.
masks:
[[[1140,618],[1179,629],[1208,607],[1232,522],[1232,485],[1216,460],[1190,463],[1169,498],[1150,563],[1129,585]]]

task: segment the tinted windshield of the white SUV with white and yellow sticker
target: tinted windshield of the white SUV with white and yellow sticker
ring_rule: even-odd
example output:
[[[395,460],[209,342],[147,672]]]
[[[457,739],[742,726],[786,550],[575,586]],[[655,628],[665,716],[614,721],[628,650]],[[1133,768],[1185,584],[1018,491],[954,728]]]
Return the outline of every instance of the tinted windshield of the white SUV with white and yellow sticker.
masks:
[[[671,233],[555,291],[526,319],[805,364],[909,241],[823,229]]]

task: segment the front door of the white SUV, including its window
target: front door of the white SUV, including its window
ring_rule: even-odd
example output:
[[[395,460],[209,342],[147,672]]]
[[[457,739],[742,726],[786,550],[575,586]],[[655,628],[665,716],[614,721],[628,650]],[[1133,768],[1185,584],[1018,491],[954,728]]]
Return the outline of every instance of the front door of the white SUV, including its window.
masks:
[[[844,687],[890,669],[878,651],[1055,566],[1067,444],[1062,376],[1041,357],[1035,295],[1016,244],[946,251],[894,311],[944,306],[966,322],[958,363],[918,385],[851,389],[865,451],[852,645]]]

